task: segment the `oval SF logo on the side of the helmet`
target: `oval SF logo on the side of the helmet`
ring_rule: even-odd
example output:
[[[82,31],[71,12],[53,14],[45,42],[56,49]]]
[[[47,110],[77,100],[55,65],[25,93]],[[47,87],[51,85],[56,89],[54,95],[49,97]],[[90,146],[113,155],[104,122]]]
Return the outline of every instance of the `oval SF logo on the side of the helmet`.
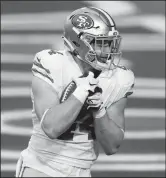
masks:
[[[72,24],[79,29],[90,29],[93,27],[93,19],[85,14],[78,14],[72,18]]]

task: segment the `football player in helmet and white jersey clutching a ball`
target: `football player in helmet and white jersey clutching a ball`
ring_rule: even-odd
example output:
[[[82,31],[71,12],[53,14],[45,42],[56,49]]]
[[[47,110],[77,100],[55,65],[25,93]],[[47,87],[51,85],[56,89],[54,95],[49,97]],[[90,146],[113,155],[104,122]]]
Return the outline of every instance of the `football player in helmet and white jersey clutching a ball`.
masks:
[[[64,50],[45,49],[32,66],[33,133],[16,177],[91,177],[98,143],[118,151],[134,74],[119,65],[121,36],[102,9],[73,11],[64,25]]]

